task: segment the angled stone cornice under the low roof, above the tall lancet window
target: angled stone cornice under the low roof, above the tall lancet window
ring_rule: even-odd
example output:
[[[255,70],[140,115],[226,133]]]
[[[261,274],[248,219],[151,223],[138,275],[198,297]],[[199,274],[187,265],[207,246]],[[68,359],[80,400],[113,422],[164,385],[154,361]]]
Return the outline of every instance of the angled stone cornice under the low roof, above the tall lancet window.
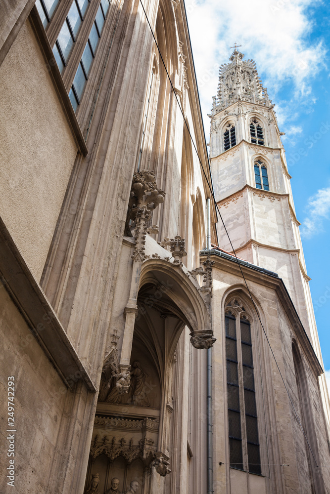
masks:
[[[236,275],[241,278],[240,268],[244,274],[247,281],[256,283],[258,285],[263,285],[264,287],[273,289],[281,302],[288,319],[291,322],[291,327],[299,341],[301,347],[304,349],[306,357],[311,364],[311,367],[316,376],[323,374],[323,368],[317,358],[314,348],[310,342],[310,339],[300,321],[291,297],[284,285],[282,278],[277,278],[275,276],[270,276],[266,273],[256,271],[247,266],[238,266],[236,261],[226,259],[217,254],[216,249],[210,251],[211,259],[214,261],[213,269],[220,269],[230,273],[231,275]],[[204,255],[201,255],[201,260],[203,260]]]

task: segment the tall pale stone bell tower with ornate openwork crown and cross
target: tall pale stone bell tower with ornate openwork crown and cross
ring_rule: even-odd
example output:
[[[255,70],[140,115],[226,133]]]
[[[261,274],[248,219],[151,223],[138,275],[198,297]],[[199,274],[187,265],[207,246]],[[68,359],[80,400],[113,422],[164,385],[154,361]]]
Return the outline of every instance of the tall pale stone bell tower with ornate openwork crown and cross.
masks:
[[[237,256],[278,273],[321,359],[285,152],[253,60],[235,49],[219,70],[210,159],[215,198]],[[222,222],[221,248],[232,251]]]

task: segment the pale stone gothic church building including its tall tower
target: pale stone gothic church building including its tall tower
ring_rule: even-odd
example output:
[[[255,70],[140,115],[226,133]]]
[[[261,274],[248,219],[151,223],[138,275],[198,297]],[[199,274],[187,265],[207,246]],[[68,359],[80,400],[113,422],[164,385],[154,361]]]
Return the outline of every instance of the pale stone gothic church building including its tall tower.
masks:
[[[182,0],[13,0],[1,19],[15,492],[326,493],[329,397],[253,62],[220,70],[210,166]]]

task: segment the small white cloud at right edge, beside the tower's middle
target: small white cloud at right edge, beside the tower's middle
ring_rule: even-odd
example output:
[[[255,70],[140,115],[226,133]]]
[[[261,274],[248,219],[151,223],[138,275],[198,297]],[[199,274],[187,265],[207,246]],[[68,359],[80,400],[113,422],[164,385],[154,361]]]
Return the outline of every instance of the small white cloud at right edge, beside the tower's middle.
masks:
[[[320,189],[310,197],[306,207],[308,216],[304,219],[300,228],[302,237],[310,239],[320,231],[323,231],[323,220],[330,216],[330,187]]]

